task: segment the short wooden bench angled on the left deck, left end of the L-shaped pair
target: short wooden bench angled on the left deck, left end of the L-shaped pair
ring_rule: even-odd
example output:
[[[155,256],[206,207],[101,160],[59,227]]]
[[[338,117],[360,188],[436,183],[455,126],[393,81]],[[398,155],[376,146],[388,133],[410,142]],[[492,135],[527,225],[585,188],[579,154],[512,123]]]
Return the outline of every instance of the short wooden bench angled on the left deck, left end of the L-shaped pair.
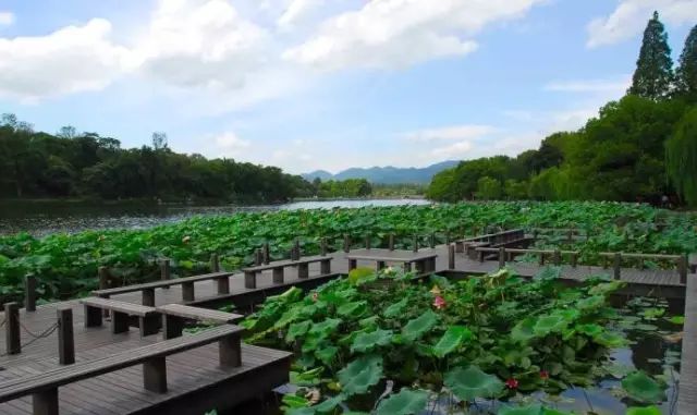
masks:
[[[137,317],[140,335],[155,334],[160,329],[159,313],[155,307],[100,297],[83,298],[80,302],[85,306],[85,327],[101,326],[102,310],[109,310],[112,333],[129,331],[131,316]]]

